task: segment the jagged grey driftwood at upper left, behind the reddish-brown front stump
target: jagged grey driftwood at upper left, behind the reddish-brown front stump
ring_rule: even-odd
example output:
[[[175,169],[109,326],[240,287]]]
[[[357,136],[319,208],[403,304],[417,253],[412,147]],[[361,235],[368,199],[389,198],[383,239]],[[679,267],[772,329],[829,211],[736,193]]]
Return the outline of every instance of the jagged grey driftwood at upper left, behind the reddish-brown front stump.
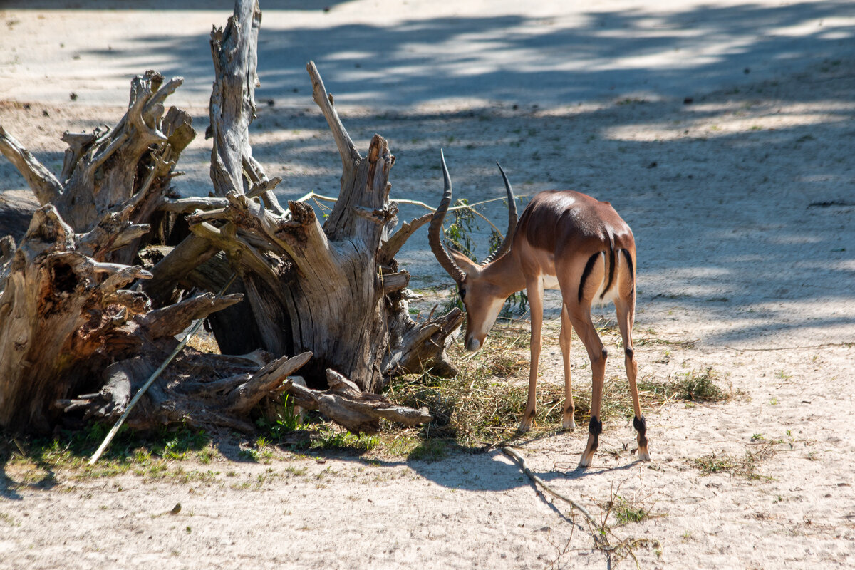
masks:
[[[166,201],[175,162],[196,136],[184,111],[173,107],[164,115],[166,97],[182,81],[176,77],[164,82],[154,71],[135,77],[127,113],[115,127],[62,135],[68,150],[58,178],[0,127],[0,152],[27,179],[38,202],[53,204],[74,232],[139,226],[136,234],[123,232],[126,243],[111,246],[99,261],[133,261],[150,229],[145,225]]]

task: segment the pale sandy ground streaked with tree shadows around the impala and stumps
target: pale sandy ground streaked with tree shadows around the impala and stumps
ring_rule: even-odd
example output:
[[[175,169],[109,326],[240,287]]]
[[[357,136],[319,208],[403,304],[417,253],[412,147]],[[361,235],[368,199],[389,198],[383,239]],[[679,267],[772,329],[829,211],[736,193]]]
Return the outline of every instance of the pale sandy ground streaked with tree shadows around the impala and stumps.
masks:
[[[206,125],[207,33],[229,3],[138,4],[152,11],[0,9],[0,123],[55,171],[61,132],[115,122],[129,76],[145,68],[185,75],[173,103],[198,132]],[[253,146],[285,179],[280,199],[338,185],[304,76],[314,59],[357,147],[374,132],[389,138],[395,197],[438,201],[444,147],[457,196],[470,201],[501,195],[496,160],[521,195],[565,187],[609,200],[639,247],[636,339],[694,341],[641,344],[640,374],[713,367],[738,397],[646,410],[649,464],[634,461],[632,427],[619,421],[606,424],[586,472],[574,469],[584,430],[524,444],[528,463],[595,516],[616,494],[652,507],[657,516],[616,529],[647,541],[634,549],[640,567],[852,567],[855,9],[519,4],[262,3]],[[182,156],[181,192],[207,191],[208,153],[199,137]],[[0,191],[23,188],[0,162]],[[504,220],[501,207],[486,214]],[[416,288],[448,280],[421,233],[403,261]],[[553,319],[558,303],[547,303]],[[588,391],[581,344],[575,352],[575,387]],[[544,360],[544,381],[558,381],[557,347]],[[619,360],[609,378],[622,375]],[[780,443],[756,479],[693,467],[769,442]],[[182,467],[196,474],[57,473],[49,489],[13,485],[24,474],[9,468],[0,567],[614,566],[581,518],[538,495],[500,452]],[[176,502],[180,514],[165,514]]]

